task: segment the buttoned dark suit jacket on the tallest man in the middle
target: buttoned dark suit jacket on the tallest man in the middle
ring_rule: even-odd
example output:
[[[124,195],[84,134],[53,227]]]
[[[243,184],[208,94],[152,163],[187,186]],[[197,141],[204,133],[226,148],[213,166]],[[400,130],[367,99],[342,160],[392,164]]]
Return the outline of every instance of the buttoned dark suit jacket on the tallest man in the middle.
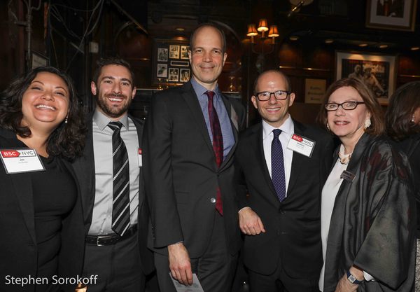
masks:
[[[243,123],[239,109],[222,97],[228,114]],[[235,109],[235,111],[233,110]],[[144,132],[146,193],[151,204],[149,246],[167,254],[169,244],[183,241],[191,258],[204,253],[214,224],[216,190],[221,188],[228,249],[235,254],[240,236],[235,199],[234,151],[220,168],[200,103],[190,82],[153,96]]]

